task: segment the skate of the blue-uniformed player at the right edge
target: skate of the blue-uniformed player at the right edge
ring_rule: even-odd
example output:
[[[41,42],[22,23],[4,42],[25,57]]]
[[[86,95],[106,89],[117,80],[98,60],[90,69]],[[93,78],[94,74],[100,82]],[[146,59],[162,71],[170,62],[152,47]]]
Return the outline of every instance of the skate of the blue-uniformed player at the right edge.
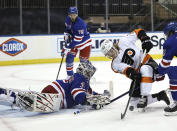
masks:
[[[165,116],[174,116],[177,115],[177,101],[175,101],[172,105],[166,107],[164,109]]]

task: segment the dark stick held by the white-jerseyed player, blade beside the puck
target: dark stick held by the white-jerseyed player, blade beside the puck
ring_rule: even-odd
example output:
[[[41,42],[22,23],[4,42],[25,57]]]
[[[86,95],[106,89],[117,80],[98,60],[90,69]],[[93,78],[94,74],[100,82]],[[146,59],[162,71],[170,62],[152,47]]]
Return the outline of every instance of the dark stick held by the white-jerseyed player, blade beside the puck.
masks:
[[[141,61],[141,66],[142,66],[142,63],[143,63],[143,60],[144,60],[144,57],[146,56],[146,51],[143,53],[143,57],[142,57],[142,61]],[[141,67],[140,66],[140,67]],[[130,88],[131,90],[131,92],[130,92],[130,96],[129,96],[129,99],[128,99],[128,102],[127,102],[127,105],[126,105],[126,108],[125,108],[125,110],[124,110],[124,113],[122,114],[121,113],[121,119],[124,119],[124,117],[125,117],[125,115],[126,115],[126,113],[127,113],[127,109],[128,109],[128,106],[129,106],[129,104],[130,104],[130,100],[131,100],[131,97],[132,97],[132,95],[133,95],[133,91],[134,91],[134,89],[135,89],[135,87],[136,87],[136,80],[134,80],[133,81],[133,84],[132,84],[132,88]]]

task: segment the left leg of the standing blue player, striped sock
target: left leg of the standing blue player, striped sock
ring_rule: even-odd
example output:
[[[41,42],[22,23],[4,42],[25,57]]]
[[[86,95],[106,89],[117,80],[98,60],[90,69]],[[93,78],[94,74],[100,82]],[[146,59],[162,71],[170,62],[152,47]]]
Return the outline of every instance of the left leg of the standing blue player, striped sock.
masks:
[[[71,51],[66,56],[66,71],[68,76],[72,76],[74,74],[73,72],[74,58],[77,52],[78,52],[77,49],[71,49]]]

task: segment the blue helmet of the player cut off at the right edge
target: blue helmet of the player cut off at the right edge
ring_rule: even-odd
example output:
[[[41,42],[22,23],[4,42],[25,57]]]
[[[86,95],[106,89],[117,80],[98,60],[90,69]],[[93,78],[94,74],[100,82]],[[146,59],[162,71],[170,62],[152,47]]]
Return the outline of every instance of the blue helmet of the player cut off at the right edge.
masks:
[[[169,23],[165,26],[163,32],[164,32],[164,34],[165,34],[166,36],[169,36],[169,34],[170,34],[171,32],[174,32],[174,33],[176,32],[176,33],[177,33],[177,22],[169,22]]]

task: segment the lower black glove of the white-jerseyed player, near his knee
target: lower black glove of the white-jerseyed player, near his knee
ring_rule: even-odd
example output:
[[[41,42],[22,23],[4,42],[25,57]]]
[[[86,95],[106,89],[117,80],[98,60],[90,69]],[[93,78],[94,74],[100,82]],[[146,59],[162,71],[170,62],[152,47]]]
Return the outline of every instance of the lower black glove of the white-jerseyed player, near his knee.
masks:
[[[126,74],[130,79],[136,80],[137,83],[141,82],[141,73],[136,72],[135,69],[128,68]]]

